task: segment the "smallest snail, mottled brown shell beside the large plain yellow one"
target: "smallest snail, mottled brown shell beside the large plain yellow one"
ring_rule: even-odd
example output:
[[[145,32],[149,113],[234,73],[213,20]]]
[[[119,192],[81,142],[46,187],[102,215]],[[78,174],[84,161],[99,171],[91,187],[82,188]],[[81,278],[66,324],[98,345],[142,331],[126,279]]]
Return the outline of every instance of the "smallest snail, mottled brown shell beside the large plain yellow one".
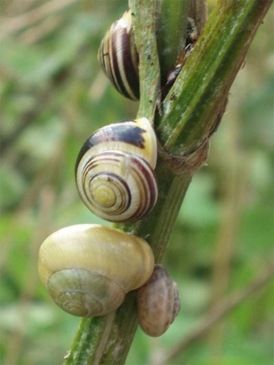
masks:
[[[142,330],[149,336],[161,336],[173,323],[180,309],[177,284],[167,270],[157,264],[149,280],[136,292],[138,320]]]

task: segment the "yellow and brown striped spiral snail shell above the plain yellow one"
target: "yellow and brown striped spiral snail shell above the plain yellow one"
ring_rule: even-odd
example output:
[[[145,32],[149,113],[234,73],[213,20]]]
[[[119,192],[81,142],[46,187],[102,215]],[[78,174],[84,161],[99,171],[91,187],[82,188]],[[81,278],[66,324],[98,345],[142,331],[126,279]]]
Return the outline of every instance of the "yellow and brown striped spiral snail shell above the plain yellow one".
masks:
[[[137,221],[158,197],[153,172],[156,158],[155,132],[147,118],[98,129],[86,140],[76,161],[80,197],[107,221]]]

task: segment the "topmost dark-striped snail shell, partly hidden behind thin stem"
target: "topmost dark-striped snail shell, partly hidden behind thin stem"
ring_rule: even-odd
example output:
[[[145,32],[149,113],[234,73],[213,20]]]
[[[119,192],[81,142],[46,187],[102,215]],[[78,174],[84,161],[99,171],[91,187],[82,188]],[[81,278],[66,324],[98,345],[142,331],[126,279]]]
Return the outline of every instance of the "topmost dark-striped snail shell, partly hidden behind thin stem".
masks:
[[[99,47],[98,60],[116,90],[129,99],[139,99],[138,53],[129,10],[106,32]]]

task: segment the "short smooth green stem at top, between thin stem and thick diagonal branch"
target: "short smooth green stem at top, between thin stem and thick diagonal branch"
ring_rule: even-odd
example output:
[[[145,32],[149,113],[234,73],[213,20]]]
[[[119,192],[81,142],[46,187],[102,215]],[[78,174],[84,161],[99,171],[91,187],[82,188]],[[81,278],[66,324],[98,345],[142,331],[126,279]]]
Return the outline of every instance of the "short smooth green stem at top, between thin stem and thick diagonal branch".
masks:
[[[162,79],[185,47],[187,15],[188,0],[160,2],[157,43]]]

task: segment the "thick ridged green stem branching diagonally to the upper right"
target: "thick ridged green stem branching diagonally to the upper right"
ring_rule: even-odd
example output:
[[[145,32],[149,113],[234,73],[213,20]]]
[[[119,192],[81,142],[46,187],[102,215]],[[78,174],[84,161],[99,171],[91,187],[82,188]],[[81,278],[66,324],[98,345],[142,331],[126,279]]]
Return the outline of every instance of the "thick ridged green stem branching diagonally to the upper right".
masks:
[[[210,133],[271,0],[218,1],[195,51],[164,100],[158,136],[187,155]]]

